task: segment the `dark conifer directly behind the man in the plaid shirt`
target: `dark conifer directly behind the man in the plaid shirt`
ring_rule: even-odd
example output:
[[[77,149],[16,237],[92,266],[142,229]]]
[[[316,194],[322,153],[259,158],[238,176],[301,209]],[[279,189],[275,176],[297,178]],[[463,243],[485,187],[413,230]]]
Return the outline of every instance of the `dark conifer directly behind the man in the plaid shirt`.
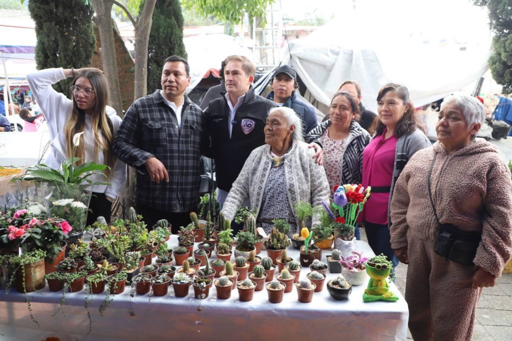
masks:
[[[141,9],[144,2],[141,2]],[[147,93],[161,89],[163,61],[168,56],[187,58],[183,44],[183,14],[180,0],[159,0],[153,12],[147,58]]]

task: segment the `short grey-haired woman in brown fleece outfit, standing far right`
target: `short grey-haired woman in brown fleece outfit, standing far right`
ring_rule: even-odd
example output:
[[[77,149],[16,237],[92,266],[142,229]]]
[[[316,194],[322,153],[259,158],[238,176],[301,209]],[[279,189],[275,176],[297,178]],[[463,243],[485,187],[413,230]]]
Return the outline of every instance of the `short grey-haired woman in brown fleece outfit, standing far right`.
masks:
[[[446,97],[438,142],[416,153],[396,182],[391,246],[409,264],[406,300],[415,340],[470,340],[482,288],[495,285],[510,258],[512,181],[496,147],[475,139],[484,119],[476,98]],[[440,224],[481,234],[473,264],[434,251],[435,212]]]

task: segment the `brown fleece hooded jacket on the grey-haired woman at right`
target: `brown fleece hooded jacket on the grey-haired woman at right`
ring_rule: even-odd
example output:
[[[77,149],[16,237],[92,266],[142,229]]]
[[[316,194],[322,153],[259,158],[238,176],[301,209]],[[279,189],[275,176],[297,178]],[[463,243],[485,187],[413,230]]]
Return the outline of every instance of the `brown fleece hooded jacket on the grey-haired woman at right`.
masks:
[[[512,181],[495,145],[477,141],[453,154],[439,142],[417,152],[398,178],[391,202],[391,246],[407,247],[407,235],[434,240],[437,222],[482,233],[474,264],[499,276],[512,253]]]

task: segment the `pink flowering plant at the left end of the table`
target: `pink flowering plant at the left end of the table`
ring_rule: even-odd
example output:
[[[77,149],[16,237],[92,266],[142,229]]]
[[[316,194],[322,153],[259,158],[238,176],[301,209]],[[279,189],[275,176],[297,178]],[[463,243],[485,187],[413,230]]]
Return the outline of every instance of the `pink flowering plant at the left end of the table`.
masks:
[[[51,260],[62,250],[72,229],[67,220],[48,218],[45,211],[10,208],[0,213],[0,249],[40,249]]]

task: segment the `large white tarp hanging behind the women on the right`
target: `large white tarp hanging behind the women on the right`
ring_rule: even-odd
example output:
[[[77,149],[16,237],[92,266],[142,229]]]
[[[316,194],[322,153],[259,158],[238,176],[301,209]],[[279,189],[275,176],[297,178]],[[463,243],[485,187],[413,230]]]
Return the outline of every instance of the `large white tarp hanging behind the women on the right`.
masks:
[[[361,84],[375,111],[387,82],[407,86],[415,106],[461,90],[488,69],[486,11],[470,3],[358,2],[309,36],[290,41],[293,66],[312,95],[329,105],[344,80]]]

